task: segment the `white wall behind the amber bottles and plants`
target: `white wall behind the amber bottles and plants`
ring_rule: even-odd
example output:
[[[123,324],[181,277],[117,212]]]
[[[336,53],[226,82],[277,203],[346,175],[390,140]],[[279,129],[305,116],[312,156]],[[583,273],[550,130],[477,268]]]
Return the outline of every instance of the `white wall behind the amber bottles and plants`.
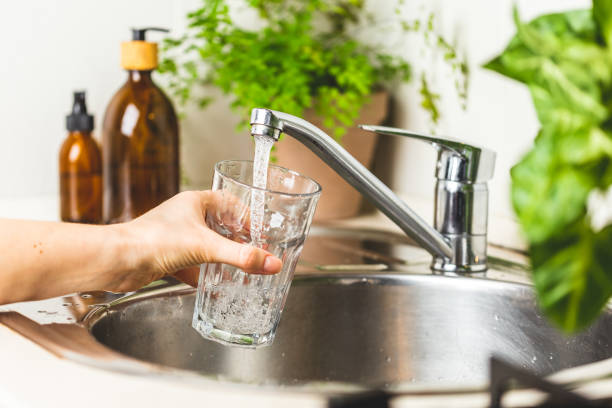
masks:
[[[391,5],[393,0],[374,2]],[[494,218],[512,217],[509,169],[529,147],[537,121],[527,90],[480,68],[500,52],[514,33],[513,0],[408,0],[413,10],[432,8],[446,34],[453,34],[468,53],[472,68],[469,107],[458,109],[452,84],[441,64],[425,64],[439,78],[443,94],[440,134],[489,146],[498,152],[496,175],[490,183]],[[132,26],[158,25],[175,33],[184,29],[184,15],[197,0],[28,0],[3,4],[0,11],[0,201],[16,197],[51,197],[58,190],[57,153],[65,137],[65,115],[71,92],[85,88],[96,116],[96,131],[106,104],[125,81],[119,67],[119,43],[130,38]],[[520,0],[524,18],[543,12],[587,7],[587,0]],[[388,7],[387,10],[391,10]],[[159,38],[153,33],[151,39]],[[428,131],[418,107],[415,86],[397,90],[398,127]],[[237,118],[218,100],[211,109],[195,112],[182,123],[183,165],[196,186],[206,186],[212,164],[222,158],[248,157],[250,144],[237,134]],[[389,160],[390,158],[390,160]],[[384,159],[384,160],[381,160]],[[432,197],[435,155],[427,145],[389,139],[379,151],[380,174],[402,195]],[[2,214],[0,206],[0,216]],[[4,207],[6,208],[6,206]],[[502,225],[502,224],[500,224]],[[503,224],[505,225],[505,224]],[[500,228],[492,223],[493,230]],[[493,234],[495,232],[493,231]]]

